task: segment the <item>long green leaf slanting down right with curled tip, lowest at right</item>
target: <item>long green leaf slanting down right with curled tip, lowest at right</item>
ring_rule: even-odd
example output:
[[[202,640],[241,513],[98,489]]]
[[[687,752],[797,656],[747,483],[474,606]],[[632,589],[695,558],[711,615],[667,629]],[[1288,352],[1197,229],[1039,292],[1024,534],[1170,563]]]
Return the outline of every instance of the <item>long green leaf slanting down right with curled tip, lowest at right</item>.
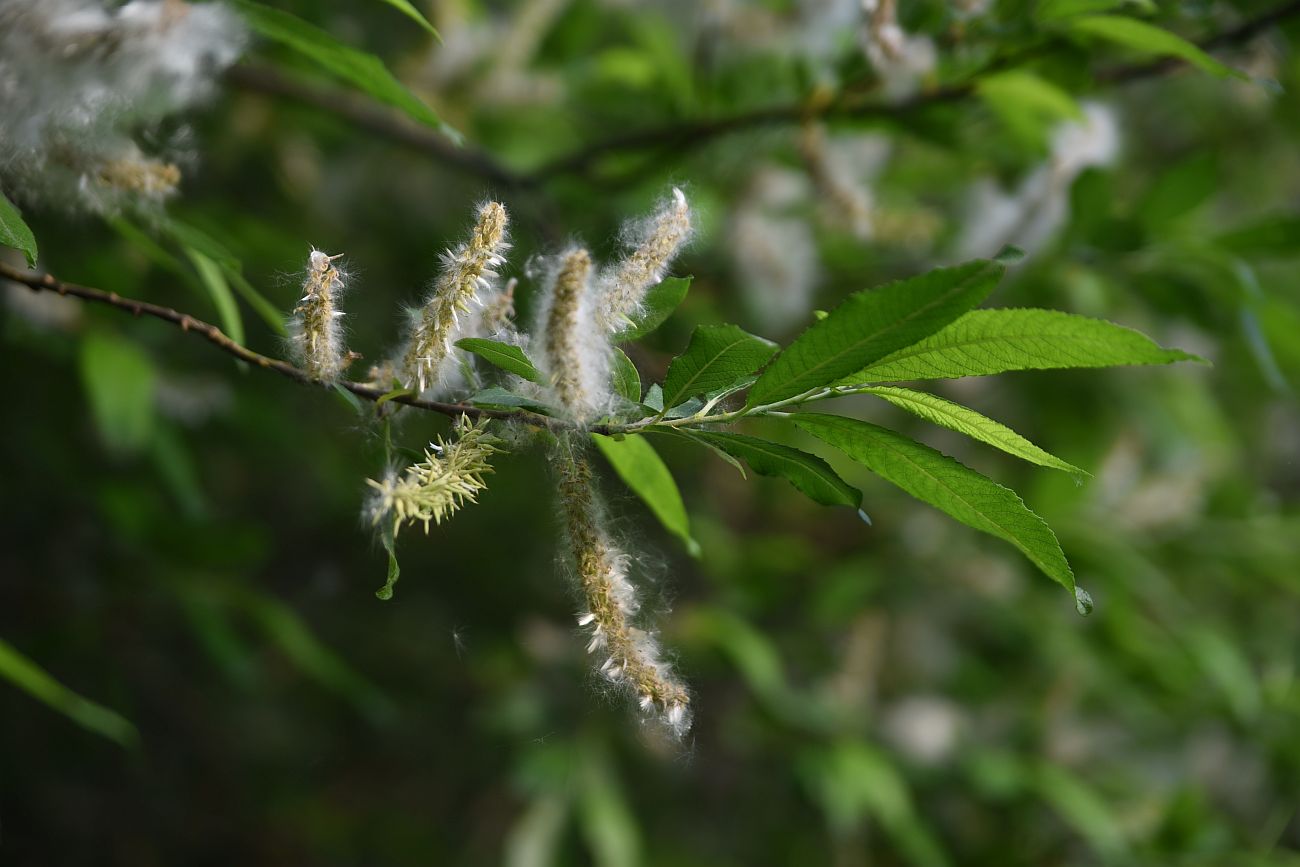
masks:
[[[1015,491],[930,446],[866,421],[812,412],[793,420],[916,499],[1010,542],[1048,577],[1074,591],[1074,572],[1056,533]]]

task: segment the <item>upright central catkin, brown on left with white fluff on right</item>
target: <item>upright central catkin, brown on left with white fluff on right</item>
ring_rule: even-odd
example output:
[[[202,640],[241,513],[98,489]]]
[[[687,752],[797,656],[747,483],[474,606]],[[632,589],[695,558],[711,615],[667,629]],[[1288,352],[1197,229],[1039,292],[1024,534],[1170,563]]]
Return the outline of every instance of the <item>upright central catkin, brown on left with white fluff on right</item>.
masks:
[[[592,268],[582,248],[562,253],[540,309],[542,367],[556,403],[580,422],[594,420],[610,400],[610,347],[595,324]]]

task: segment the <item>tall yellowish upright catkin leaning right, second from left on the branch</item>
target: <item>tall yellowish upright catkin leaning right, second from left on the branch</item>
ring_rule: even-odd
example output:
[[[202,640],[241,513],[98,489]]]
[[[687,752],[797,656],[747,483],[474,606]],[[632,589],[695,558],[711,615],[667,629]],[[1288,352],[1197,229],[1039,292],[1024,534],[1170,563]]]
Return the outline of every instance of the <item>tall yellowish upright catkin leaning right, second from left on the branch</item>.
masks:
[[[425,393],[443,380],[455,339],[482,295],[490,292],[497,268],[510,246],[508,217],[498,201],[486,201],[469,239],[442,256],[442,276],[415,316],[411,338],[400,363],[402,385]]]

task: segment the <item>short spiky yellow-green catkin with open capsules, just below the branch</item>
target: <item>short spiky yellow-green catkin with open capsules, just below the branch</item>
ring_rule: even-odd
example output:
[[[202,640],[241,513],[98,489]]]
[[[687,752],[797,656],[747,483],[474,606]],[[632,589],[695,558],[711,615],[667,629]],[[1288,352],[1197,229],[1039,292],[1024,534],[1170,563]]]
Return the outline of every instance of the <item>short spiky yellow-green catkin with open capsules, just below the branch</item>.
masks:
[[[488,487],[484,477],[493,471],[488,461],[500,451],[485,424],[462,417],[459,435],[429,443],[420,463],[381,481],[365,480],[374,489],[368,506],[370,523],[390,521],[394,537],[403,524],[424,524],[428,533],[430,523],[442,524],[467,502],[477,502],[478,491]]]

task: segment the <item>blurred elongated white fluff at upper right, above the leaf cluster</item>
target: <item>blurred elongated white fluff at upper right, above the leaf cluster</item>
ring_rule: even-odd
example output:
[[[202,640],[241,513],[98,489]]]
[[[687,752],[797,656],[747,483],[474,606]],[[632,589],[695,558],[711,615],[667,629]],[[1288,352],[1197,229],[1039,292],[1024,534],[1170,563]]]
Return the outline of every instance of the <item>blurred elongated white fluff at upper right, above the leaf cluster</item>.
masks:
[[[1039,251],[1070,217],[1070,187],[1091,168],[1112,165],[1119,155],[1119,121],[1114,109],[1084,103],[1083,118],[1062,123],[1052,135],[1050,156],[1014,192],[991,179],[978,181],[966,204],[957,244],[959,259],[991,256],[1005,244]]]

